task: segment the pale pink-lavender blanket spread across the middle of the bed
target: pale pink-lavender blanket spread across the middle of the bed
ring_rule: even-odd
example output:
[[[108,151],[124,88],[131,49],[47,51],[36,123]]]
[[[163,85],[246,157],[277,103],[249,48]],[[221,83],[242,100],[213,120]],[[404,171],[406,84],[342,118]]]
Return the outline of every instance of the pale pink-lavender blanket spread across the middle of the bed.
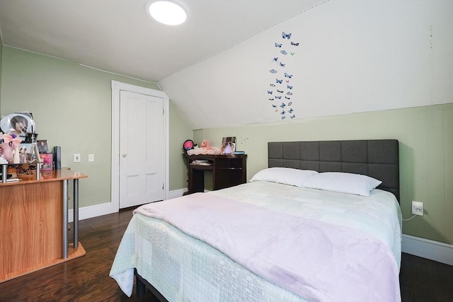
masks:
[[[390,248],[352,228],[204,193],[134,213],[171,223],[307,301],[401,301]]]

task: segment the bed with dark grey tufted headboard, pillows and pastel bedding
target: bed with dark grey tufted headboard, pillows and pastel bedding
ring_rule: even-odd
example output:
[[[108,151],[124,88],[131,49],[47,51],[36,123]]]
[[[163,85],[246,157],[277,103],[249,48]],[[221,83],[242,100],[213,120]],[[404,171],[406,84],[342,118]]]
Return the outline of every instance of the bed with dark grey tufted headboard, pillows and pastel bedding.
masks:
[[[160,301],[401,301],[398,171],[394,139],[270,142],[251,182],[134,210],[110,277]]]

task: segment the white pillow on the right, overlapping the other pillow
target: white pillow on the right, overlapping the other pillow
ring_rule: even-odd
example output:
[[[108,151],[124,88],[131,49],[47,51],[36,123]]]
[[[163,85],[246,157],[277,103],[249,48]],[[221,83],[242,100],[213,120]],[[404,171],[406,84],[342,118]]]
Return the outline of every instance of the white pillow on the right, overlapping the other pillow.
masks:
[[[306,179],[304,187],[369,196],[369,192],[381,183],[382,181],[370,178],[366,175],[341,172],[323,172],[312,175]]]

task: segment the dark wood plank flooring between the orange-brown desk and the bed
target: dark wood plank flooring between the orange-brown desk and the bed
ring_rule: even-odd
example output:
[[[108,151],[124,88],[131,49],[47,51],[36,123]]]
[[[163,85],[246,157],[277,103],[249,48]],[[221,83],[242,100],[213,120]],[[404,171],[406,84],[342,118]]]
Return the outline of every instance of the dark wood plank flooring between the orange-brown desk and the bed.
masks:
[[[0,301],[148,301],[128,298],[108,276],[132,209],[79,221],[86,255],[0,283]]]

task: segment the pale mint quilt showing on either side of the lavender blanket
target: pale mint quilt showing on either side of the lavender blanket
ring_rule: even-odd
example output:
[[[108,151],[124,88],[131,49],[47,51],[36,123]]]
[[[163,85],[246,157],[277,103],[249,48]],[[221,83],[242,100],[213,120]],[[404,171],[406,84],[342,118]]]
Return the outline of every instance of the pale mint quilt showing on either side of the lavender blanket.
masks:
[[[401,211],[389,192],[373,190],[369,197],[360,197],[275,182],[250,182],[205,194],[252,204],[275,214],[360,230],[391,250],[389,261],[399,270]],[[299,261],[303,260],[295,259],[294,263]],[[110,271],[128,296],[132,294],[134,268],[168,301],[305,301],[207,242],[188,236],[171,223],[142,214],[132,217]],[[395,282],[391,278],[389,281]]]

